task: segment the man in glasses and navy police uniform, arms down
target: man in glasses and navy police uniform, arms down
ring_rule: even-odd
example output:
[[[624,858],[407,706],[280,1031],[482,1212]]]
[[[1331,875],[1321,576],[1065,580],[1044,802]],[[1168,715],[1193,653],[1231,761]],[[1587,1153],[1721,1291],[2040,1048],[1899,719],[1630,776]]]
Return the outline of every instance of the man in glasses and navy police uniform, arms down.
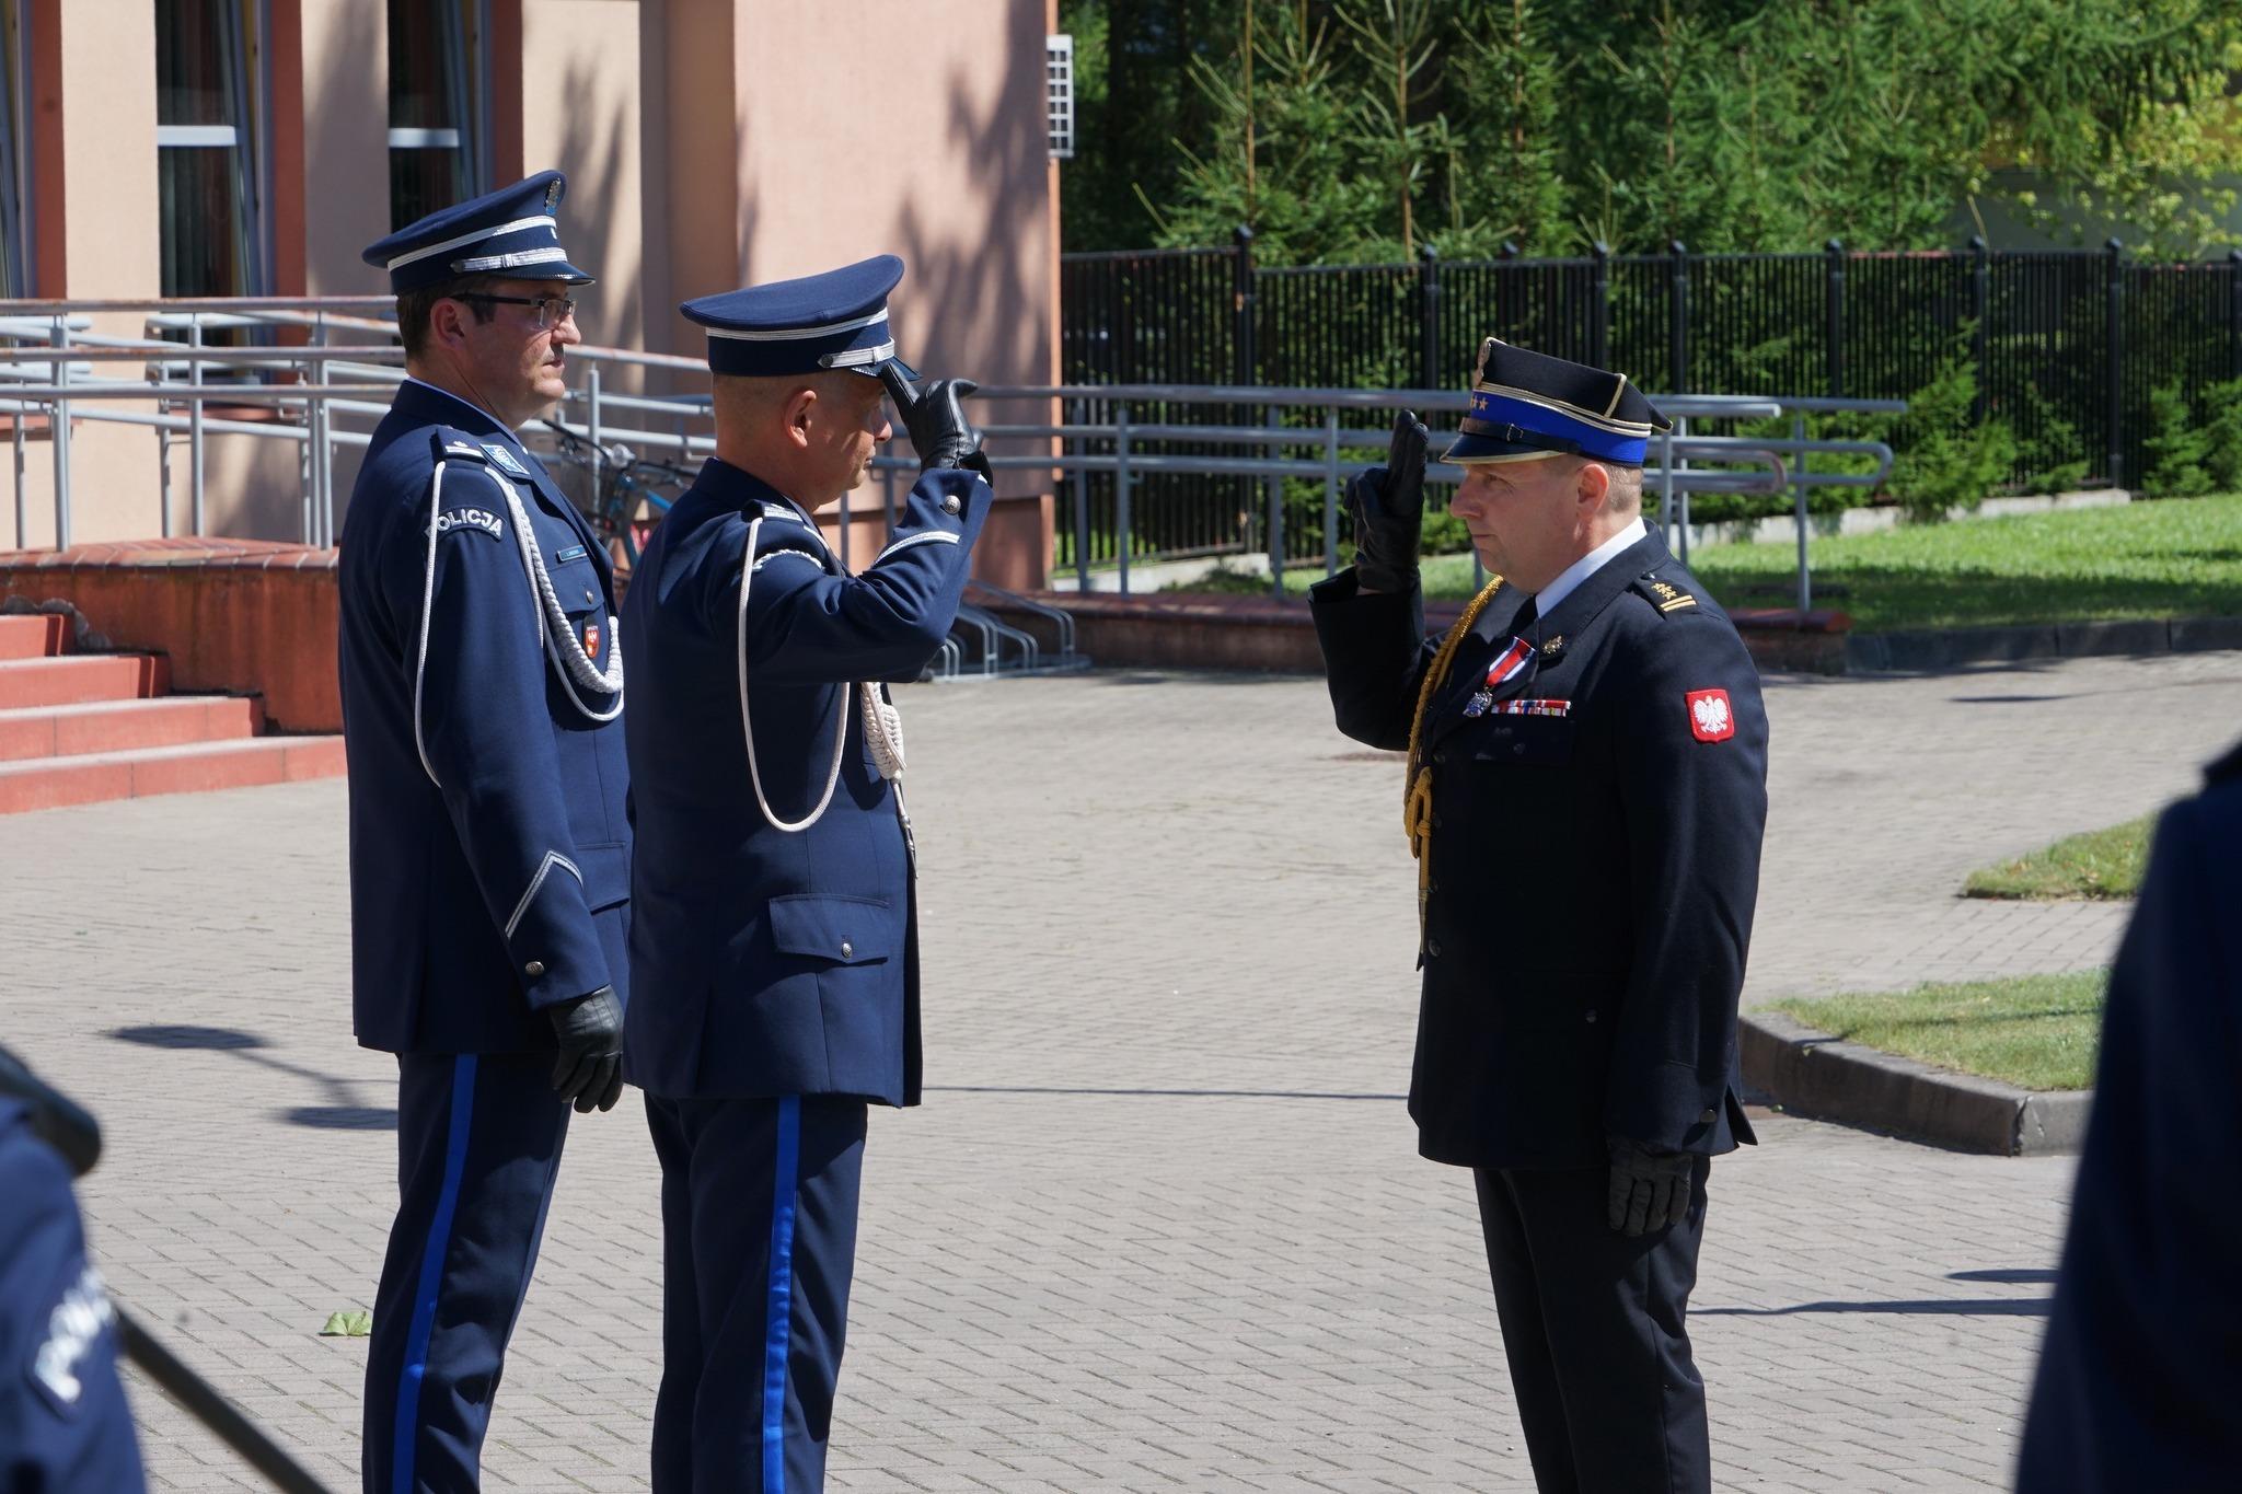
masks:
[[[621,1093],[630,824],[608,553],[513,430],[590,276],[540,172],[365,251],[410,379],[343,522],[356,1035],[397,1055],[365,1494],[480,1481],[569,1107]]]

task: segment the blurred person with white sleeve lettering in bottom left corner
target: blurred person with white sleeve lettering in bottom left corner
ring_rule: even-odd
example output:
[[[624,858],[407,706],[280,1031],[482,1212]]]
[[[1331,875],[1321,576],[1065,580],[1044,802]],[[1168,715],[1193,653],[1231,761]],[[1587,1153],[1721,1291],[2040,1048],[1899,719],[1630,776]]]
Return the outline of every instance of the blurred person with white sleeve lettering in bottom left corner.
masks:
[[[13,1068],[4,1051],[0,1068]],[[0,1082],[0,1490],[141,1494],[117,1310],[85,1259],[70,1167],[7,1091]]]

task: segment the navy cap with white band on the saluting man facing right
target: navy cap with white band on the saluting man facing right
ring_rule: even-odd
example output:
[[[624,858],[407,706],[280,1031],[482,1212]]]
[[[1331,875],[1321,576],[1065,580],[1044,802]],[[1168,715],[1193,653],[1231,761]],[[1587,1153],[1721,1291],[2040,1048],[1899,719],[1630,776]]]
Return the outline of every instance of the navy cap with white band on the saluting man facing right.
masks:
[[[877,376],[883,365],[895,363],[906,379],[917,379],[895,356],[895,334],[888,329],[888,291],[901,278],[904,262],[883,253],[823,276],[702,296],[677,309],[708,329],[713,374],[782,379],[850,370]]]

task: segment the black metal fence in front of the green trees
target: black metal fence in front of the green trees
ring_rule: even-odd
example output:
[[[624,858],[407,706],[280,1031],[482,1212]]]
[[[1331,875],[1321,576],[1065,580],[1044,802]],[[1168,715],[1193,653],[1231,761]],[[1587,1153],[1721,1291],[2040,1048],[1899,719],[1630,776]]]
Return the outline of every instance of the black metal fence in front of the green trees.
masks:
[[[1955,356],[2016,479],[2137,482],[2150,392],[2242,376],[2242,251],[1699,255],[1260,267],[1231,249],[1060,255],[1067,383],[1453,387],[1482,336],[1688,394],[1910,399]],[[1139,414],[1139,419],[1146,419]],[[1204,506],[1204,504],[1202,504]],[[1204,544],[1204,540],[1202,540]]]

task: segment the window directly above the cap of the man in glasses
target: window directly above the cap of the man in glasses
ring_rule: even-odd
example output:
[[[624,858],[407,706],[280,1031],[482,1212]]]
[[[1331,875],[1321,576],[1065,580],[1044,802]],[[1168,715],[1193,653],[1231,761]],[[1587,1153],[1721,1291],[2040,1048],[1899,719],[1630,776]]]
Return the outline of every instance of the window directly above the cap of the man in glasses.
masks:
[[[390,0],[390,228],[489,190],[489,0]]]

